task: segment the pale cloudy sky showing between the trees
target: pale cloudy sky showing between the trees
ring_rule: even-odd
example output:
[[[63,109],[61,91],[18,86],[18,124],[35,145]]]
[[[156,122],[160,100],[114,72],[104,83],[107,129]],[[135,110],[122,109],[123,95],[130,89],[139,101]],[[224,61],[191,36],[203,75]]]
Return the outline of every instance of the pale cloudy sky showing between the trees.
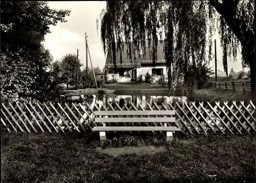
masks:
[[[86,65],[84,36],[84,33],[86,32],[88,35],[88,44],[93,67],[99,66],[102,70],[105,64],[105,56],[100,42],[100,33],[97,36],[96,19],[99,16],[100,11],[105,7],[105,2],[80,1],[48,3],[51,9],[71,10],[70,16],[66,18],[68,21],[65,23],[59,22],[57,26],[51,27],[51,33],[45,37],[45,48],[50,50],[54,60],[60,59],[68,53],[77,54],[77,49],[79,49],[79,58],[82,60],[82,63]],[[212,41],[214,41],[214,39],[217,39],[217,68],[223,71],[222,53],[218,35],[216,35]],[[233,67],[235,72],[242,70],[240,54],[238,55],[237,60],[237,62],[233,62],[233,59],[232,61],[228,59],[228,71],[230,71],[231,67]],[[89,56],[88,61],[88,64],[91,67]],[[215,66],[214,59],[210,62],[210,66]]]

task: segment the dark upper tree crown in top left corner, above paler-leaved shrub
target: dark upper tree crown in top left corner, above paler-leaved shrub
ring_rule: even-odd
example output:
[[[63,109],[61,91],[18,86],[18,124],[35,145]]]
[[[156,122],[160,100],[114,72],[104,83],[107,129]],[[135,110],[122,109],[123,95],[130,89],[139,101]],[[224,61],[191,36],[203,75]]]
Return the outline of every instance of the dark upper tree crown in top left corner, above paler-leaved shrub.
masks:
[[[36,49],[50,26],[66,22],[69,15],[68,10],[50,9],[47,2],[1,2],[1,51]]]

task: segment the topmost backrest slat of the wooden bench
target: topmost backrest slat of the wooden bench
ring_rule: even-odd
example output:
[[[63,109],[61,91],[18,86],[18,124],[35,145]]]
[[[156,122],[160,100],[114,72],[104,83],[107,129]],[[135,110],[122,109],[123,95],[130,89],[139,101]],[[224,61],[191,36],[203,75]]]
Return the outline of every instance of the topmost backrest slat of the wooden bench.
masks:
[[[101,110],[94,113],[96,116],[175,115],[175,110]]]

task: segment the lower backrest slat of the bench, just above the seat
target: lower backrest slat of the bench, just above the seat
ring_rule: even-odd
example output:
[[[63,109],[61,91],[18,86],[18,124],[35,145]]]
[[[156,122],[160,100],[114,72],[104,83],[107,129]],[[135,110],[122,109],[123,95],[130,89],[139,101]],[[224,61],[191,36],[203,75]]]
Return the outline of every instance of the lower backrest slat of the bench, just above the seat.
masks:
[[[95,118],[95,123],[153,123],[175,122],[175,118]]]

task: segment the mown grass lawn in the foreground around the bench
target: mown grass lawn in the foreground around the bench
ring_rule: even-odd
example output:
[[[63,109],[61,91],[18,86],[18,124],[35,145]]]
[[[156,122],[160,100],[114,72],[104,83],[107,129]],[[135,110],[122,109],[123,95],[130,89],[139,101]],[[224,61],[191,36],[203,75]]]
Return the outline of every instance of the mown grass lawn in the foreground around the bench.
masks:
[[[118,143],[106,144],[102,148],[95,135],[84,138],[58,133],[2,133],[2,181],[255,180],[253,136],[208,135],[195,139],[178,136],[172,143],[161,146],[154,146],[152,134],[150,138],[147,136],[144,139],[146,140],[135,136],[130,147],[116,149],[125,145],[117,141]],[[136,152],[136,148],[150,150]]]

